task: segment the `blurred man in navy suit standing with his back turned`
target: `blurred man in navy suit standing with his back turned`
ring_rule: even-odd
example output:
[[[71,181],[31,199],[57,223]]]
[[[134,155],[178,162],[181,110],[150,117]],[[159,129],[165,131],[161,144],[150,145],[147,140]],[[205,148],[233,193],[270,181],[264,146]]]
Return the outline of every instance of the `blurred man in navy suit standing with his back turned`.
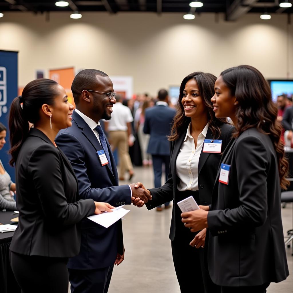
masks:
[[[153,108],[145,111],[144,133],[150,134],[147,153],[152,155],[155,188],[161,186],[162,164],[165,164],[166,181],[169,174],[170,148],[167,136],[170,135],[171,124],[175,115],[175,110],[168,105],[168,92],[161,89],[158,93],[159,101]],[[165,209],[169,207],[169,202],[165,203]],[[161,206],[157,211],[161,211]]]

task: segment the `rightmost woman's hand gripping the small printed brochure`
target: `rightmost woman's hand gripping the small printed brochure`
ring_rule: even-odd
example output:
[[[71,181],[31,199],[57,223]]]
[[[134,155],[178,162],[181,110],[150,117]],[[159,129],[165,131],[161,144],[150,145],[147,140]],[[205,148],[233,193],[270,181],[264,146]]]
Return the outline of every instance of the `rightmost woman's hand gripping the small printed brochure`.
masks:
[[[197,232],[207,228],[208,213],[209,212],[204,211],[203,209],[182,213],[182,222],[186,228],[190,228],[191,232]]]

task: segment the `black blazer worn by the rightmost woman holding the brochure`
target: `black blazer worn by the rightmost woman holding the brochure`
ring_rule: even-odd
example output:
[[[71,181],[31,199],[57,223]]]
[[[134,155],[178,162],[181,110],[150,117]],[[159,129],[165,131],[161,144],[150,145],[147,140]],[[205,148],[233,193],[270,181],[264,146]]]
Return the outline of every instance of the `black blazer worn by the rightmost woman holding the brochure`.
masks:
[[[222,162],[231,165],[228,185],[219,173],[208,213],[208,267],[221,286],[257,286],[289,275],[280,208],[280,177],[270,137],[256,128],[231,141]]]

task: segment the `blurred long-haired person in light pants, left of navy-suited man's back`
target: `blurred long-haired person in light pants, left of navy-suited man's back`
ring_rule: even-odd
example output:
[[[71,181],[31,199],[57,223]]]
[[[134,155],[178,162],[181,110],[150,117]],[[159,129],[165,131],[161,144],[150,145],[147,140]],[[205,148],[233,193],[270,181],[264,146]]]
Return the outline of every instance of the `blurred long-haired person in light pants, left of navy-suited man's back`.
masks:
[[[145,100],[142,108],[137,109],[136,115],[139,115],[137,121],[137,136],[139,139],[140,150],[142,153],[142,164],[143,166],[151,166],[152,160],[151,155],[147,153],[147,147],[149,145],[149,134],[144,133],[144,120],[145,120],[145,110],[150,107],[151,101]],[[154,104],[154,103],[153,103]]]

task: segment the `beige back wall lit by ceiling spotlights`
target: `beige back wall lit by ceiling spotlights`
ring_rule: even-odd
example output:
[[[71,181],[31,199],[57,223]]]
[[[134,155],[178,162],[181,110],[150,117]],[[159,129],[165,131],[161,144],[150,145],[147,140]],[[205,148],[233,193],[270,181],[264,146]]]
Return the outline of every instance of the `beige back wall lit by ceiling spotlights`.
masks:
[[[193,71],[215,75],[228,67],[250,64],[267,78],[293,79],[293,25],[286,15],[263,21],[249,14],[237,22],[215,21],[201,14],[5,13],[0,18],[0,49],[19,51],[19,86],[35,78],[36,69],[74,66],[134,78],[134,92],[179,85]],[[288,30],[288,31],[287,31]],[[287,49],[287,40],[289,47]]]

